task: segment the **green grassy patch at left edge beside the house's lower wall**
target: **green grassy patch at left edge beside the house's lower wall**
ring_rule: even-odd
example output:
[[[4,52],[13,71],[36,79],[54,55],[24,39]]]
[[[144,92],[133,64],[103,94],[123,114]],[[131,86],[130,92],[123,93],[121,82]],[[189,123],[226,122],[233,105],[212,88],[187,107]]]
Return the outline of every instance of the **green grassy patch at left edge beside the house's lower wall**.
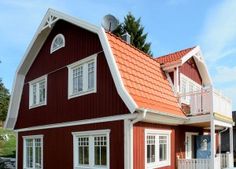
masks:
[[[11,130],[0,128],[0,136],[8,135],[9,140],[0,139],[0,157],[15,157],[16,153],[16,136]]]

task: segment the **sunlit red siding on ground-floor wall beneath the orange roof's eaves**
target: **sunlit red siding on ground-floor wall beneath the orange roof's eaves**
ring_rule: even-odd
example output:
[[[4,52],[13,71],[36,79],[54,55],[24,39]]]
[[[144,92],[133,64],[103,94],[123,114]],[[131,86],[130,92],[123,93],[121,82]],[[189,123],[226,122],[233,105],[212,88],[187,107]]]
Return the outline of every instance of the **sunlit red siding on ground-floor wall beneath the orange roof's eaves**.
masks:
[[[161,124],[137,123],[133,128],[134,169],[145,167],[145,129],[171,130],[171,165],[161,169],[175,169],[176,158],[185,158],[185,132],[203,133],[202,128],[190,126],[168,126]]]

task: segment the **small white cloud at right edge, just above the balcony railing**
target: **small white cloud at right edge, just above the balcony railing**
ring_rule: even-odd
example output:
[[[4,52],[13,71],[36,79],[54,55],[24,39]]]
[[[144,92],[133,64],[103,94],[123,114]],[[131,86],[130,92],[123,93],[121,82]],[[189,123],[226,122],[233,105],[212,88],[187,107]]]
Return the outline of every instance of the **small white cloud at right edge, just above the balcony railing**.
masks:
[[[216,67],[216,73],[213,76],[215,83],[233,83],[236,82],[236,66],[227,67],[227,66],[218,66]]]

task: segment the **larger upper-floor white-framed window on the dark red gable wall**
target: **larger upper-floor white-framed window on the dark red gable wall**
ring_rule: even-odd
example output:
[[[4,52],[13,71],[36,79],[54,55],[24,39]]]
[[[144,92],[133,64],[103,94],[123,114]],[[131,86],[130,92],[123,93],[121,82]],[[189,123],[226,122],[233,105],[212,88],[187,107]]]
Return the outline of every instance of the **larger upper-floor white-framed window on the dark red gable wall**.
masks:
[[[68,98],[96,92],[96,58],[92,55],[68,66]]]

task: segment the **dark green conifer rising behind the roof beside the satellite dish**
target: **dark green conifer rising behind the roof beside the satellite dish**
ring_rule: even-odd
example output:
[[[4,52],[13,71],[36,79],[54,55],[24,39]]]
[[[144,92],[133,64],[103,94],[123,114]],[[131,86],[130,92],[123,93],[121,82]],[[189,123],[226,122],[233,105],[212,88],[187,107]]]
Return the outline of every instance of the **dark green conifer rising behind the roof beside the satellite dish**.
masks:
[[[137,20],[129,12],[124,17],[124,23],[121,23],[113,33],[121,37],[124,33],[128,32],[131,36],[130,43],[141,51],[152,56],[151,43],[146,42],[147,33],[144,33],[144,26],[141,24],[141,18]]]

